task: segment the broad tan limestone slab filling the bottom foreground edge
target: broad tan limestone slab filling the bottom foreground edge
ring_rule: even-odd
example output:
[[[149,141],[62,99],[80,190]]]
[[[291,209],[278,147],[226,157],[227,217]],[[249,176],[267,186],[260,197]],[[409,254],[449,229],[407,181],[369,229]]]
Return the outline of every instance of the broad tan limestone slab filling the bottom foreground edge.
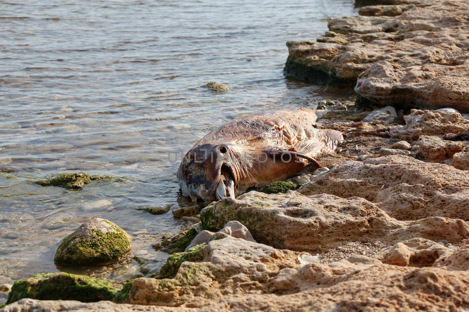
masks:
[[[206,257],[184,262],[174,279],[138,278],[127,302],[22,299],[13,311],[461,311],[469,307],[462,252],[443,267],[409,267],[366,256],[300,264],[301,254],[227,237],[206,245]],[[449,259],[449,258],[448,258]],[[197,278],[194,278],[194,276]],[[153,306],[139,306],[153,305]],[[96,311],[96,310],[95,310]]]

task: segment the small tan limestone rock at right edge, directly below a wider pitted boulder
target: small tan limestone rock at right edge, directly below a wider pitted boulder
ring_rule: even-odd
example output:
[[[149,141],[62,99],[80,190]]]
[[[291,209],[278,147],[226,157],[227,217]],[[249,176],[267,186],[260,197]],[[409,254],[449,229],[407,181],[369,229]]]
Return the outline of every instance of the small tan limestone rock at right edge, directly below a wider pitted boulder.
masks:
[[[454,154],[461,152],[464,146],[469,145],[469,142],[448,141],[436,136],[422,135],[418,138],[418,145],[420,147],[418,153],[423,160],[429,162],[442,162],[453,158]]]

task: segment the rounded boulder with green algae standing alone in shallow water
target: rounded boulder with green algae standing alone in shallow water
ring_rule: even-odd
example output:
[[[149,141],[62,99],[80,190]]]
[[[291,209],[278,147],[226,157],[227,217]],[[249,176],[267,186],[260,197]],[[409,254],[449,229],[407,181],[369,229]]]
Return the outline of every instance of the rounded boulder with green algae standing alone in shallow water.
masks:
[[[117,262],[127,254],[132,238],[112,222],[93,218],[62,240],[55,252],[59,265],[91,266]]]

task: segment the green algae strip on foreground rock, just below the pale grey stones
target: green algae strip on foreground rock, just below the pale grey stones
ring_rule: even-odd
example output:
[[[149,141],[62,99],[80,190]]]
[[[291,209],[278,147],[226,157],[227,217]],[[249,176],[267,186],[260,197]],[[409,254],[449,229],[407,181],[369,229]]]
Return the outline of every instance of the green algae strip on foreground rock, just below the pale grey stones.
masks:
[[[209,257],[209,254],[210,254],[210,251],[207,246],[207,243],[203,243],[203,244],[191,247],[189,248],[187,252],[174,253],[168,257],[166,263],[159,270],[159,273],[156,273],[151,277],[156,277],[160,279],[161,278],[174,278],[182,262],[206,261]]]

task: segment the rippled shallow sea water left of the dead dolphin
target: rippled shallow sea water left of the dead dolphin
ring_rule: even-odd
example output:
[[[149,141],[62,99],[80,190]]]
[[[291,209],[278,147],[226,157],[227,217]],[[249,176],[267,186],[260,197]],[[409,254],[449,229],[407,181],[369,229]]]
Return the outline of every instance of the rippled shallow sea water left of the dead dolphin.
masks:
[[[1,0],[0,283],[57,271],[59,241],[94,217],[159,268],[167,254],[151,244],[185,224],[136,209],[185,204],[181,154],[219,124],[339,96],[283,66],[286,41],[314,40],[343,15],[356,15],[352,0]],[[79,171],[124,179],[79,191],[30,181]]]

